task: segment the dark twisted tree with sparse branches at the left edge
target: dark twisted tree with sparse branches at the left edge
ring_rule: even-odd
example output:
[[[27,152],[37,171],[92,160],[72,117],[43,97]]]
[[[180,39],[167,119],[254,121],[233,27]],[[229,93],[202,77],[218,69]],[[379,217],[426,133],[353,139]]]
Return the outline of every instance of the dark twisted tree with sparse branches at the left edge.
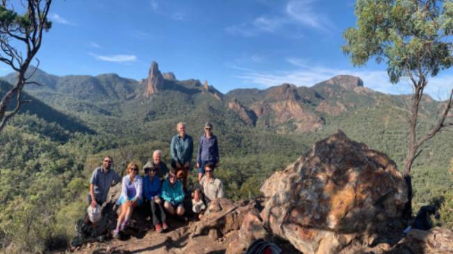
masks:
[[[0,61],[17,72],[17,81],[0,101],[0,132],[6,122],[20,111],[22,104],[29,102],[22,100],[24,86],[40,85],[35,81],[29,81],[38,70],[39,60],[36,59],[38,61],[36,69],[28,77],[26,70],[41,47],[43,31],[48,31],[52,25],[47,20],[52,0],[28,0],[20,3],[21,7],[26,9],[23,15],[18,14],[8,0],[2,0],[0,4]],[[15,101],[13,97],[16,97]],[[8,111],[8,107],[13,109]]]

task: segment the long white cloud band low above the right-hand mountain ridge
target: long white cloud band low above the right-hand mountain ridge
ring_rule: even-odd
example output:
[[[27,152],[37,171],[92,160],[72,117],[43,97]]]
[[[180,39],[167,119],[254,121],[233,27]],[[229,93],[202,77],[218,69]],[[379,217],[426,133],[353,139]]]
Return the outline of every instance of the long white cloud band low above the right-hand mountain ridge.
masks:
[[[275,72],[261,72],[247,68],[234,67],[243,73],[235,77],[241,79],[244,84],[254,84],[261,88],[279,86],[284,83],[295,84],[296,86],[313,86],[321,81],[330,79],[336,75],[348,74],[360,77],[364,86],[381,93],[394,95],[412,93],[412,87],[406,79],[399,84],[391,84],[387,72],[384,70],[360,70],[360,69],[339,69],[325,68],[322,66],[310,66],[308,61],[300,58],[286,58],[286,61],[293,62],[297,70],[284,70]],[[429,79],[426,93],[436,100],[446,100],[450,90],[453,88],[453,74],[445,74],[440,77]]]

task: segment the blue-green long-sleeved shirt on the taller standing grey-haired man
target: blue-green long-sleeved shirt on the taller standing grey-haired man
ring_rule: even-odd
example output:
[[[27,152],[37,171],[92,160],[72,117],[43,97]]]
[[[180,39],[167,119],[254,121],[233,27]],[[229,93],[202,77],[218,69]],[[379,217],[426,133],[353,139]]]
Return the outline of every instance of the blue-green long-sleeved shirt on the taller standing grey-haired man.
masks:
[[[192,155],[194,154],[194,141],[192,137],[185,134],[184,138],[181,138],[179,134],[176,134],[171,138],[170,143],[170,155],[171,159],[181,164],[187,161],[192,161]]]

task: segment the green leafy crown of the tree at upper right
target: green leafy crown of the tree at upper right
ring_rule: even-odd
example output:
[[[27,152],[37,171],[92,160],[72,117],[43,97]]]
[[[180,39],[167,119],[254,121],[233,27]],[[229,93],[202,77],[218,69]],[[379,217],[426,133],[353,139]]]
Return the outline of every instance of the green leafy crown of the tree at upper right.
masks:
[[[354,65],[385,60],[393,83],[452,65],[452,1],[358,0],[355,15],[357,28],[344,32],[342,48]]]

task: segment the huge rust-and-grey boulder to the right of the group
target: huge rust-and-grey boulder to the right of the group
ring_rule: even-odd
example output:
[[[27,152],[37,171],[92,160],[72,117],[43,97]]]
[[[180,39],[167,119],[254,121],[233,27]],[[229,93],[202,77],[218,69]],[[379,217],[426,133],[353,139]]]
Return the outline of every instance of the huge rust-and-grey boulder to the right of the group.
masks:
[[[313,145],[261,187],[266,228],[302,253],[335,253],[401,216],[407,186],[381,152],[339,131]]]

